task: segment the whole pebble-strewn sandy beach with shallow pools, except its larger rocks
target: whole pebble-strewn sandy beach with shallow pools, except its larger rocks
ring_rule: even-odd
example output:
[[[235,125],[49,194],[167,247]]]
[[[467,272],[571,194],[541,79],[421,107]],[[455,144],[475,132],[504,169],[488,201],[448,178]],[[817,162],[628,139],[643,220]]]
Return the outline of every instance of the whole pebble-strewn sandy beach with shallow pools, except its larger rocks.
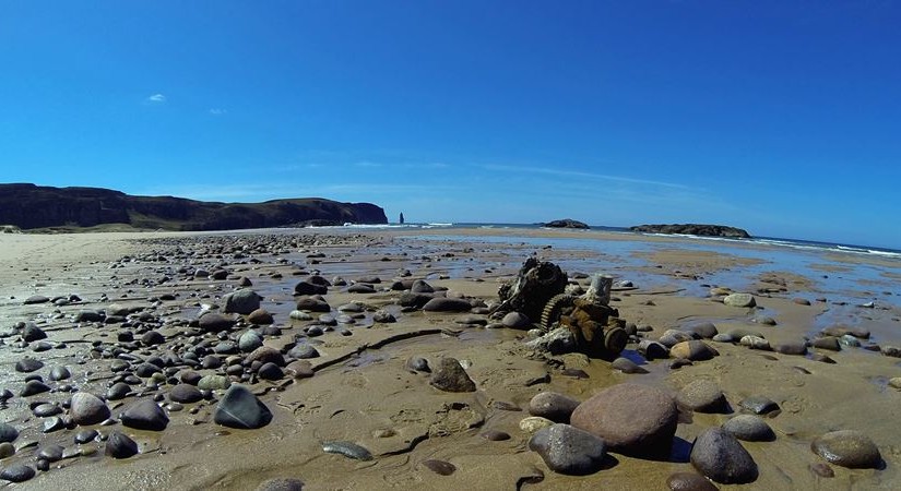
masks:
[[[534,333],[491,319],[498,288],[533,254],[560,265],[582,288],[597,272],[631,282],[614,288],[610,306],[631,330],[623,357],[644,373],[578,352],[536,352],[526,346]],[[901,366],[888,348],[901,346],[900,275],[901,263],[890,259],[595,231],[0,235],[0,390],[9,390],[2,420],[17,431],[7,439],[10,448],[0,450],[0,469],[36,469],[14,484],[22,489],[73,482],[97,490],[258,489],[276,478],[310,490],[672,489],[674,475],[700,476],[689,462],[696,438],[752,414],[743,402],[766,398],[776,408],[759,418],[774,438],[740,442],[757,477],[708,484],[897,489],[901,392],[892,385],[901,380],[892,380],[901,378]],[[309,297],[295,295],[297,285],[317,276],[330,283],[322,295],[327,311],[300,312],[298,301]],[[415,279],[442,298],[465,299],[471,309],[402,306]],[[353,288],[360,285],[371,288]],[[259,307],[271,322],[225,313],[225,296],[241,288],[262,297]],[[720,294],[732,291],[751,294],[756,307],[725,304]],[[232,325],[204,328],[199,316],[208,311],[225,314]],[[26,339],[28,323],[46,337]],[[638,351],[642,339],[661,340],[667,330],[700,323],[720,334],[758,335],[770,349],[751,349],[735,334],[730,342],[700,339],[719,355],[686,364],[674,356],[647,360]],[[830,327],[854,335],[811,346]],[[253,349],[244,349],[246,343]],[[805,352],[772,349],[791,344]],[[268,358],[256,355],[260,346]],[[297,358],[299,346],[317,356]],[[446,357],[460,360],[474,392],[430,383]],[[412,369],[416,358],[432,373]],[[24,359],[39,367],[23,367]],[[263,359],[276,360],[276,376],[263,378]],[[59,376],[61,368],[68,376]],[[21,395],[35,375],[46,391]],[[225,388],[179,387],[200,398],[173,399],[176,386],[195,386],[209,375],[246,386],[271,421],[257,429],[217,423]],[[684,400],[685,387],[697,381],[718,387],[727,404],[714,412],[680,404],[663,457],[609,450],[598,470],[564,475],[530,448],[532,432],[522,429],[530,400],[541,393],[584,402],[638,384]],[[75,423],[70,399],[78,393],[99,396],[109,417]],[[164,414],[164,429],[123,424],[122,412],[147,402]],[[96,439],[75,443],[92,429]],[[847,468],[811,450],[839,430],[872,440],[877,468]],[[135,442],[139,453],[107,455],[114,432]],[[353,445],[323,451],[333,442]],[[60,458],[48,451],[57,445]],[[360,458],[360,447],[369,458]]]

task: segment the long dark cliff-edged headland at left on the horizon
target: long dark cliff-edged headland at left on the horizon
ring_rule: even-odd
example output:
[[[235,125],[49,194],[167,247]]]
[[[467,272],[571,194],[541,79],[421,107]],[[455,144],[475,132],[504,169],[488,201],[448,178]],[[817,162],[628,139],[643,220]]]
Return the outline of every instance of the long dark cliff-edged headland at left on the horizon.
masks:
[[[216,203],[173,196],[132,196],[102,188],[0,184],[0,224],[23,230],[127,224],[165,230],[232,230],[303,225],[387,224],[371,203],[321,197]]]

